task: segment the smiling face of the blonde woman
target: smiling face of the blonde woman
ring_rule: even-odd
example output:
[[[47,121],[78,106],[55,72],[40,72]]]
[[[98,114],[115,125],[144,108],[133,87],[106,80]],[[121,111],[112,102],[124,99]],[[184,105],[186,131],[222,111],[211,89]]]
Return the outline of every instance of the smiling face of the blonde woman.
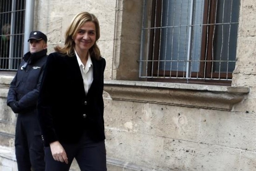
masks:
[[[93,22],[85,22],[75,34],[75,49],[79,52],[86,52],[94,45],[96,41],[96,30]]]

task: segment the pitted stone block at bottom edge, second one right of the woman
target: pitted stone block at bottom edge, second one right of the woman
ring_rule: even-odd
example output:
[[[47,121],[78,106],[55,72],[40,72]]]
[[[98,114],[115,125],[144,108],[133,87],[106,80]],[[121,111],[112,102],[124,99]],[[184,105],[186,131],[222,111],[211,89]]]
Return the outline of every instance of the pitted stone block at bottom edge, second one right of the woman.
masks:
[[[241,150],[176,139],[165,139],[161,166],[166,170],[238,170]]]

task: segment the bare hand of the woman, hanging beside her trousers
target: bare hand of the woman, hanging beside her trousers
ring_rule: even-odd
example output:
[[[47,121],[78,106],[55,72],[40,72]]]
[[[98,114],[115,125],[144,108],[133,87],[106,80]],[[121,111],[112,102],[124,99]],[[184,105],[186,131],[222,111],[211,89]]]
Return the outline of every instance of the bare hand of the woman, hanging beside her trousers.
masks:
[[[68,164],[67,154],[59,141],[54,141],[50,143],[50,148],[52,152],[52,157],[55,161],[65,161],[65,163]]]

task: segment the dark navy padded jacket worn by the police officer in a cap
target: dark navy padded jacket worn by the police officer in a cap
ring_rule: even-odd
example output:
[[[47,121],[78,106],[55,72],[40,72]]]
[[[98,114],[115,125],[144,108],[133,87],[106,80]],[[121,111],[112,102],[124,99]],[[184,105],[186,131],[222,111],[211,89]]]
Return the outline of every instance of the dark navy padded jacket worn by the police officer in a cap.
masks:
[[[7,95],[7,105],[18,101],[19,113],[36,111],[36,103],[39,96],[40,84],[47,60],[47,49],[23,56],[19,69],[10,83]]]

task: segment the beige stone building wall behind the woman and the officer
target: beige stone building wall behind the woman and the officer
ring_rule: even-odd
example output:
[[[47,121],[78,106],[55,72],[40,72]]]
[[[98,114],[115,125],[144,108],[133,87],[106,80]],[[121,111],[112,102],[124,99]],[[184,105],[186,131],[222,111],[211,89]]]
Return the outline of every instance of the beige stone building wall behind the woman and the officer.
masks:
[[[142,9],[142,0],[35,1],[34,28],[47,34],[48,53],[63,44],[75,14],[89,11],[100,22],[108,170],[256,170],[256,1],[241,0],[230,87],[139,79]],[[13,147],[11,79],[0,72],[0,140]]]

